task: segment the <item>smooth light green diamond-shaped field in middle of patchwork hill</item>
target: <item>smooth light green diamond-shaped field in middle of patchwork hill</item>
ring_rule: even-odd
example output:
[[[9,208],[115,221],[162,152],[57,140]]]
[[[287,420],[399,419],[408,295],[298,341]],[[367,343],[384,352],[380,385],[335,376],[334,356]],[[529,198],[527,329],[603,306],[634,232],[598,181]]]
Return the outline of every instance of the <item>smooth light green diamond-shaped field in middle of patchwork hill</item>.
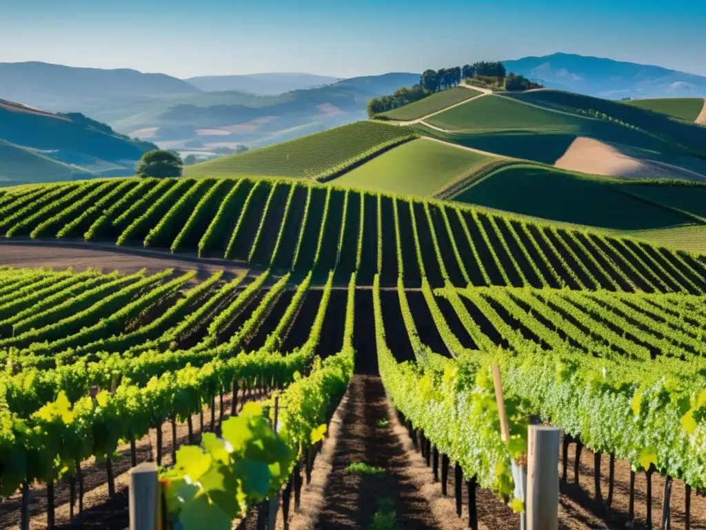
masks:
[[[333,183],[379,192],[431,196],[493,160],[496,158],[417,139],[373,158]]]

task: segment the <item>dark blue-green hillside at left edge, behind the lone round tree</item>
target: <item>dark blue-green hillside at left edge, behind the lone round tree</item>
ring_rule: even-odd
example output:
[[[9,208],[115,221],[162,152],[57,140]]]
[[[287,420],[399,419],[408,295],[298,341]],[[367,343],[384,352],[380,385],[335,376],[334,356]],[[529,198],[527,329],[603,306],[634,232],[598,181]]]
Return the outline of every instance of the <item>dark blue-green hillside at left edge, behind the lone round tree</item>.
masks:
[[[0,180],[43,182],[131,175],[155,148],[83,114],[53,114],[0,100]]]

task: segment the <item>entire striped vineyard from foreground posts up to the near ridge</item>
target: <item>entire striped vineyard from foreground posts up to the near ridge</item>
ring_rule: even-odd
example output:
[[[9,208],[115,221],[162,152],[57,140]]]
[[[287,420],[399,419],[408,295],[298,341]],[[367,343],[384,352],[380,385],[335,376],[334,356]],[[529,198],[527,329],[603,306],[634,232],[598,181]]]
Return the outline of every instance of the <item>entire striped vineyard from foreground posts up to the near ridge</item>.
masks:
[[[203,527],[207,514],[209,528],[243,517],[241,528],[261,528],[277,498],[285,519],[297,517],[290,501],[304,508],[304,483],[326,467],[332,416],[352,402],[369,414],[373,404],[354,394],[376,384],[395,413],[374,417],[371,429],[407,428],[432,468],[426,482],[441,467],[442,491],[455,481],[456,513],[465,510],[471,527],[517,527],[512,510],[523,505],[511,462],[537,421],[564,434],[565,485],[573,449],[581,493],[562,490],[561,502],[590,497],[602,507],[587,509],[605,524],[596,527],[650,526],[658,484],[662,517],[675,528],[706,525],[706,503],[692,493],[706,489],[698,254],[291,179],[9,190],[0,193],[0,230],[2,245],[110,243],[247,269],[0,269],[0,528],[122,529],[120,492],[144,461],[163,466],[167,514],[185,529]],[[341,417],[341,440],[370,443],[346,430],[356,416]],[[380,446],[361,454],[382,471],[346,464],[371,473],[360,483],[379,493],[376,481],[393,471],[383,458],[391,436],[376,436]],[[582,450],[593,454],[588,467]],[[330,473],[335,483],[345,471]],[[594,476],[594,489],[578,488],[580,473]],[[477,502],[483,492],[490,497]],[[336,491],[327,495],[324,508],[335,507]],[[388,513],[381,498],[371,502],[376,517]],[[414,526],[417,515],[400,502],[398,527],[433,527]],[[492,526],[489,506],[502,524]],[[335,524],[325,509],[316,528]],[[350,517],[362,528],[373,514]],[[572,517],[562,512],[562,527],[578,528]]]

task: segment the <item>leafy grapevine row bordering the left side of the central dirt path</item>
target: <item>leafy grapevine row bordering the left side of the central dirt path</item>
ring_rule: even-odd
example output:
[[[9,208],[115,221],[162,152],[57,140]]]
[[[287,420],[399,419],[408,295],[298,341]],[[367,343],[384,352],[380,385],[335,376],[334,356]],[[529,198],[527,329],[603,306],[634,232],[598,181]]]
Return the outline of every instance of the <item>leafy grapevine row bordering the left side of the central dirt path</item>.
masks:
[[[277,394],[276,403],[270,399],[262,407],[247,406],[239,418],[227,420],[222,428],[223,437],[232,449],[225,442],[216,440],[215,436],[206,435],[203,449],[185,447],[177,452],[174,468],[162,471],[161,475],[170,507],[169,520],[177,522],[183,514],[201,510],[201,506],[195,506],[194,497],[181,495],[180,488],[184,481],[195,483],[201,497],[213,495],[210,513],[220,521],[220,526],[214,528],[223,530],[231,528],[232,520],[243,517],[249,507],[280,492],[291,476],[295,462],[301,459],[305,450],[323,438],[330,414],[352,375],[354,292],[355,277],[352,276],[348,288],[344,347],[340,353],[323,362],[317,360],[313,363],[309,375],[297,379]],[[268,428],[263,414],[269,416],[269,425],[274,428]],[[283,436],[280,437],[280,434]],[[250,447],[258,449],[253,453]],[[194,459],[208,460],[210,454],[220,454],[217,466],[206,469],[192,465]],[[255,454],[260,456],[256,457]],[[239,465],[246,459],[250,463],[262,464],[263,471],[257,474],[257,487],[248,479],[253,471]],[[222,477],[220,484],[232,485],[232,492],[224,496],[220,486],[212,490],[209,481],[200,480],[206,473]],[[236,507],[232,504],[234,498],[239,500]],[[226,502],[222,503],[221,500]]]

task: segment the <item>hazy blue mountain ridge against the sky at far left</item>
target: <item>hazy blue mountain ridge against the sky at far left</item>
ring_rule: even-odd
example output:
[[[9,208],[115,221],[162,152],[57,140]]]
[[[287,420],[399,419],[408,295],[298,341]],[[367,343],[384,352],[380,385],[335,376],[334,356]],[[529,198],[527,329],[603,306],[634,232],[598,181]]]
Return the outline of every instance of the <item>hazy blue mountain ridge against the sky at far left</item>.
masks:
[[[136,70],[75,68],[42,62],[0,63],[0,98],[47,110],[104,100],[201,93],[181,79]]]

